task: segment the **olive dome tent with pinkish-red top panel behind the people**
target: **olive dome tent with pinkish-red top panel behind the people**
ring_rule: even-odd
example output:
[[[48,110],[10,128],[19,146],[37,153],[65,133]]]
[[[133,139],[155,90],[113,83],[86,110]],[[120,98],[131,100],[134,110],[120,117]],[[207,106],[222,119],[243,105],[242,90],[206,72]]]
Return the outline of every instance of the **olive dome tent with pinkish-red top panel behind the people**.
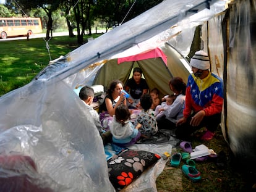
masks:
[[[107,88],[111,80],[119,79],[126,83],[134,67],[142,69],[145,80],[150,90],[158,88],[160,98],[169,94],[169,80],[179,75],[184,81],[187,81],[189,71],[179,57],[174,55],[174,49],[166,44],[166,49],[151,49],[134,56],[110,59],[96,73],[93,85],[103,85]],[[186,61],[186,59],[184,59]],[[189,64],[187,64],[189,66]],[[166,89],[167,88],[167,89]]]

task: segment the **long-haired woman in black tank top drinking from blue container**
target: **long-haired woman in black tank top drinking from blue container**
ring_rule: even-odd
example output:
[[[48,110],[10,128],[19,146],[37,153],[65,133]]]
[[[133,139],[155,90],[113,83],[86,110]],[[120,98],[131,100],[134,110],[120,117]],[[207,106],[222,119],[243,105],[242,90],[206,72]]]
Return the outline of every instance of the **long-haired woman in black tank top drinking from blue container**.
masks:
[[[113,121],[113,115],[116,111],[116,107],[120,104],[126,105],[125,93],[122,93],[122,81],[111,81],[106,97],[103,103],[100,105],[100,121],[105,130],[109,130],[109,123]]]

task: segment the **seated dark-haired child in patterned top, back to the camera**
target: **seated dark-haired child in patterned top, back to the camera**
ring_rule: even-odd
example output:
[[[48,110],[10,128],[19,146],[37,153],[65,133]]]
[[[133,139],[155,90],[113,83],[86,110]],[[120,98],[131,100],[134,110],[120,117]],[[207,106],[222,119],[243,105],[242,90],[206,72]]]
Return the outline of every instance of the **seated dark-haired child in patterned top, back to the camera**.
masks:
[[[134,123],[135,125],[136,123],[142,124],[140,133],[142,133],[143,137],[150,138],[150,136],[155,135],[158,131],[155,112],[150,109],[152,105],[152,98],[150,94],[145,93],[142,95],[142,98],[140,98],[140,105],[142,107],[142,111],[138,114]]]

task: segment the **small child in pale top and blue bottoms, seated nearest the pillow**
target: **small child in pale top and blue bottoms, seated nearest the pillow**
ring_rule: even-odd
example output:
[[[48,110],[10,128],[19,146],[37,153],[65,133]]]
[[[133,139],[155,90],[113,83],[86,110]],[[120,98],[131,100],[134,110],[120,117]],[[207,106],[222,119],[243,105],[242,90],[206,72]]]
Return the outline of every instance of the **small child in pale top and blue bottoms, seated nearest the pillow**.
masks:
[[[130,112],[125,104],[116,106],[113,122],[109,124],[109,130],[113,135],[113,143],[117,146],[126,147],[136,143],[140,138],[140,123],[136,126],[130,122]]]

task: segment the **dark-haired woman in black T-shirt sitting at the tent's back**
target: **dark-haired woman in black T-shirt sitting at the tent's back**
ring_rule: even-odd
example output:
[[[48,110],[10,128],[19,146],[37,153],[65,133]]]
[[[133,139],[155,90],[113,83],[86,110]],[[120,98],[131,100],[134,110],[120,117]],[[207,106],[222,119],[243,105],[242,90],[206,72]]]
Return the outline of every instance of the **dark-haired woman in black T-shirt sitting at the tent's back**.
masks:
[[[142,94],[148,93],[148,84],[142,78],[142,70],[139,67],[135,67],[132,74],[132,78],[127,81],[124,89],[127,93],[130,93],[127,106],[130,109],[135,109],[140,107],[140,97]]]

